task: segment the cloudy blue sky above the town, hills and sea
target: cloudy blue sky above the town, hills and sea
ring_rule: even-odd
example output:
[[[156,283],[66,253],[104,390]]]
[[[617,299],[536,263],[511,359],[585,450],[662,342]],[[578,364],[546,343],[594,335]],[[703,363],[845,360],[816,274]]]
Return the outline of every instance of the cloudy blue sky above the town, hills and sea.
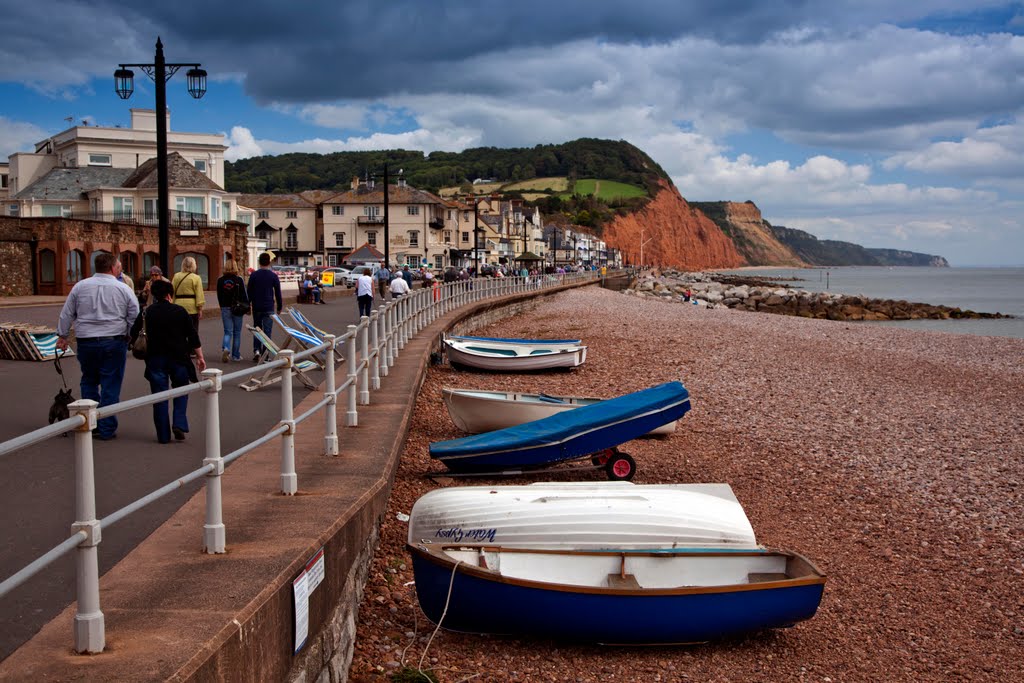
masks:
[[[1024,1],[36,0],[0,12],[0,159],[153,109],[229,160],[624,139],[691,201],[1024,264]]]

